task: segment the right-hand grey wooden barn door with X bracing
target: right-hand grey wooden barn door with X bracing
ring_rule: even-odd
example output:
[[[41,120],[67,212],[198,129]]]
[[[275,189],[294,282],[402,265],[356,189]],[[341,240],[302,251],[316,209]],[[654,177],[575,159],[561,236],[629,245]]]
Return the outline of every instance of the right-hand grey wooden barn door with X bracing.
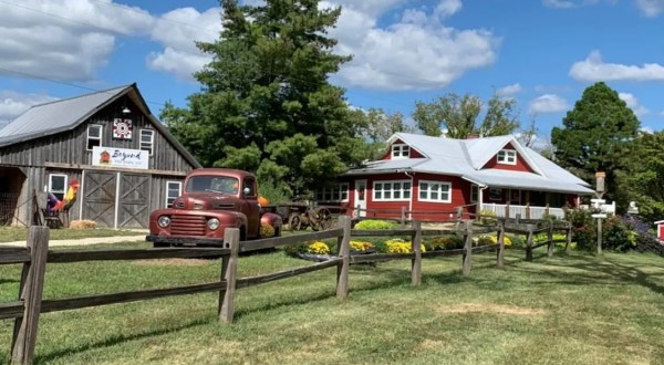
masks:
[[[149,175],[122,174],[117,201],[117,228],[147,228]]]

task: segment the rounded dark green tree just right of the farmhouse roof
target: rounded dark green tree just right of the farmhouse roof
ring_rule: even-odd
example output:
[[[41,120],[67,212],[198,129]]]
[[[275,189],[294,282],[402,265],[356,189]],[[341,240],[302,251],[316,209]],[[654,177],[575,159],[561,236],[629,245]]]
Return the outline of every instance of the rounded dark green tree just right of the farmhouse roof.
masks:
[[[596,171],[605,171],[606,197],[612,198],[619,157],[639,132],[640,122],[632,109],[614,90],[599,82],[583,91],[562,124],[551,132],[556,161],[591,184]]]

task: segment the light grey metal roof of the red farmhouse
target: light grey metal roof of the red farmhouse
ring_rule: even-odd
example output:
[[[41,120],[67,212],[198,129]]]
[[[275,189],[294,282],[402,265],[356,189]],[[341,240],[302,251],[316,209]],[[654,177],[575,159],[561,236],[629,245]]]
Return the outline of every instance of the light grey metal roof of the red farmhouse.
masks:
[[[546,191],[592,194],[589,184],[568,170],[542,157],[531,148],[523,147],[515,136],[497,136],[474,139],[452,139],[407,133],[393,135],[387,143],[402,140],[417,149],[424,158],[387,159],[353,168],[346,175],[378,175],[386,173],[428,173],[459,176],[475,184],[531,188]],[[535,173],[502,169],[483,169],[486,163],[506,145],[511,144]]]

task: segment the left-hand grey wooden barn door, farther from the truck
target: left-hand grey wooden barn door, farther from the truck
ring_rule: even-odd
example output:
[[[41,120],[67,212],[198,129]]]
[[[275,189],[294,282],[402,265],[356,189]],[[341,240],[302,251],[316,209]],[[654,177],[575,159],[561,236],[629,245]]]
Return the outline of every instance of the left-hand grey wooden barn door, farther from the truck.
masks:
[[[85,171],[83,219],[100,227],[115,227],[115,190],[117,173]]]

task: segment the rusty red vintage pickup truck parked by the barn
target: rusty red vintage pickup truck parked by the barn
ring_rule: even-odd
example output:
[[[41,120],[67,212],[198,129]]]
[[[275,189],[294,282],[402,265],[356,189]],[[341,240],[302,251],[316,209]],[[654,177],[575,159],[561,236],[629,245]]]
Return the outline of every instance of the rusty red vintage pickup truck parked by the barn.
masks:
[[[253,174],[199,168],[187,175],[172,208],[151,213],[146,239],[154,247],[220,244],[226,228],[239,228],[245,241],[280,236],[282,220],[261,211]]]

